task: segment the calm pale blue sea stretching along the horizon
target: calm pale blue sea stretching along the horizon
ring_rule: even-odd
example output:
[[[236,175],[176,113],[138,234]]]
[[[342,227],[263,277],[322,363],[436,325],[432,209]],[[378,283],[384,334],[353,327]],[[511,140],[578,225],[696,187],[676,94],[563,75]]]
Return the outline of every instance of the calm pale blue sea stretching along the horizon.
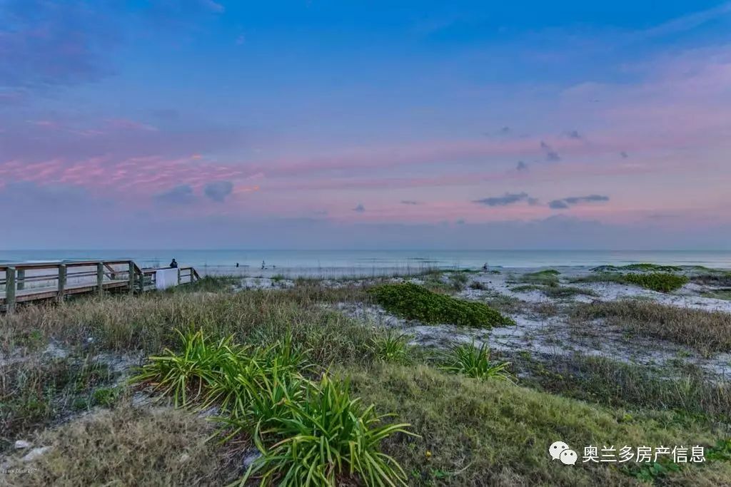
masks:
[[[485,263],[539,267],[654,262],[731,269],[729,250],[0,250],[0,262],[131,258],[142,266],[165,266],[173,257],[208,274],[249,275],[368,275]]]

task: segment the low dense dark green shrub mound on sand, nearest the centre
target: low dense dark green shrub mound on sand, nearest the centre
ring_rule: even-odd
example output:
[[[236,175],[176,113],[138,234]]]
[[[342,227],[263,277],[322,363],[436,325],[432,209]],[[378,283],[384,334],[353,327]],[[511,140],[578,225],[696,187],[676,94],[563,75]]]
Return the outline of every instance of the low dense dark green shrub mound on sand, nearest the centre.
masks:
[[[413,283],[382,284],[370,292],[387,311],[409,320],[482,328],[514,324],[487,304],[444,296]]]

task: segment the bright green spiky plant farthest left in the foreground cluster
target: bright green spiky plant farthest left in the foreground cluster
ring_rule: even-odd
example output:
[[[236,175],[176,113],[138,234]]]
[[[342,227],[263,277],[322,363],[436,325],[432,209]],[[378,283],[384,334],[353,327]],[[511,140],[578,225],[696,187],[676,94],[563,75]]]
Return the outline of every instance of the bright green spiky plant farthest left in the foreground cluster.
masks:
[[[176,407],[189,406],[205,398],[208,388],[221,380],[224,369],[236,367],[246,348],[232,343],[232,337],[219,341],[206,338],[202,330],[178,330],[181,352],[165,349],[150,357],[132,382],[148,383],[164,395],[173,396]]]

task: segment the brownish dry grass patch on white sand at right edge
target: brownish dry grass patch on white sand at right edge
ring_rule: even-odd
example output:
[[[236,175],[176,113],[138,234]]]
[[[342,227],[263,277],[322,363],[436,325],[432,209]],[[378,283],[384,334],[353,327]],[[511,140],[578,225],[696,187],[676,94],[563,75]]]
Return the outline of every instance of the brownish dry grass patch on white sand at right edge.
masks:
[[[603,318],[629,332],[686,345],[701,353],[731,351],[731,314],[694,310],[654,302],[623,300],[580,304],[574,318]]]

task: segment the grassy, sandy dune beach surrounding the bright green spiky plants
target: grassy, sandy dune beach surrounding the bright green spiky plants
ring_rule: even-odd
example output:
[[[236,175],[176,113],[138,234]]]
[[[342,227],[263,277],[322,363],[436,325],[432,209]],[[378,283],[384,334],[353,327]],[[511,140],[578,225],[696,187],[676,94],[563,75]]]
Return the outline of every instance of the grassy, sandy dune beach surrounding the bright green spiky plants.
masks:
[[[151,471],[186,482],[240,478],[267,454],[252,443],[254,432],[207,441],[216,435],[210,420],[230,421],[231,411],[218,395],[197,397],[207,388],[196,393],[194,383],[185,390],[197,399],[181,407],[154,368],[161,353],[196,360],[194,350],[240,344],[244,356],[284,354],[276,360],[295,347],[298,367],[314,372],[296,381],[332,375],[412,425],[419,437],[382,445],[412,472],[407,485],[501,485],[504,475],[518,485],[639,485],[633,471],[611,464],[556,467],[545,448],[558,437],[572,445],[700,445],[710,467],[680,469],[675,481],[731,481],[731,465],[713,460],[731,432],[727,270],[656,263],[342,270],[288,277],[227,269],[168,291],[1,316],[0,393],[8,405],[0,466],[31,469],[14,477],[26,479],[20,485],[56,483],[58,465],[75,472],[75,483],[119,465],[158,483],[141,467],[147,456],[163,465]],[[140,380],[144,370],[159,378]],[[27,399],[29,380],[53,384],[40,413],[29,410],[36,404]],[[148,432],[160,446],[135,453],[137,439],[119,428]],[[85,442],[108,447],[94,450],[97,467],[69,470],[86,455]],[[455,473],[444,480],[433,468]]]

